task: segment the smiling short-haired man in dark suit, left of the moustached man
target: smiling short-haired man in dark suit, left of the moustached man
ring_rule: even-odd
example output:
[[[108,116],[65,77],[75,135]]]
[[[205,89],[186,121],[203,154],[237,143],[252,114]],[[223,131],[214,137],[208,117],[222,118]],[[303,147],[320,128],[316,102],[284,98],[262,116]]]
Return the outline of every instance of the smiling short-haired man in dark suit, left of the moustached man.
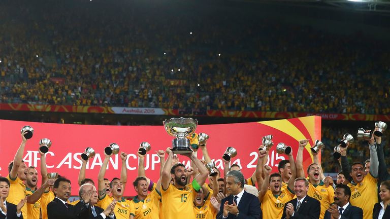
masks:
[[[318,219],[321,204],[317,199],[307,196],[309,182],[305,178],[294,181],[294,192],[297,198],[287,202],[281,219]]]

